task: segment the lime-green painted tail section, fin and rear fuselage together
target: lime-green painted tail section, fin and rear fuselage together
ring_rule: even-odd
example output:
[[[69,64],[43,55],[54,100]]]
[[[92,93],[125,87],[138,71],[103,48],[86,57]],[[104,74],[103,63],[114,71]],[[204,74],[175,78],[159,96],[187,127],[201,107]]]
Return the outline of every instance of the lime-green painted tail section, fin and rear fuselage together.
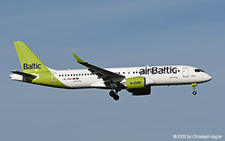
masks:
[[[52,87],[69,88],[52,74],[49,68],[41,62],[24,42],[15,41],[14,45],[23,69],[23,81]]]

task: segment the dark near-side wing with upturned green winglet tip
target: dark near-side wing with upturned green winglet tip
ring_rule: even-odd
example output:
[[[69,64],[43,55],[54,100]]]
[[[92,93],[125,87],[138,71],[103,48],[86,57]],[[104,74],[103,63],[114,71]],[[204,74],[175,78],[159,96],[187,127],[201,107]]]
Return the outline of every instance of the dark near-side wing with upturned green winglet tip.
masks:
[[[88,70],[91,71],[93,74],[96,74],[98,78],[102,78],[107,87],[117,88],[118,85],[120,85],[119,83],[125,78],[125,76],[123,75],[119,75],[109,70],[99,68],[87,62],[84,62],[76,54],[73,54],[73,56],[75,57],[78,63],[86,66]]]

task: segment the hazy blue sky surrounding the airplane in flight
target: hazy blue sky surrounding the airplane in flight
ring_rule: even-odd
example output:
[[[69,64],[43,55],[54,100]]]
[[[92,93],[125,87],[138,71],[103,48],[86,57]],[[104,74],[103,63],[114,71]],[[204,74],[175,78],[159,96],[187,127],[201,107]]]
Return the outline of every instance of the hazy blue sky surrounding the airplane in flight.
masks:
[[[225,2],[115,0],[0,2],[0,140],[173,140],[225,135]],[[21,70],[13,41],[50,68],[80,69],[72,53],[100,67],[184,64],[213,80],[152,87],[150,96],[62,90],[10,81]],[[224,137],[223,137],[224,138]]]

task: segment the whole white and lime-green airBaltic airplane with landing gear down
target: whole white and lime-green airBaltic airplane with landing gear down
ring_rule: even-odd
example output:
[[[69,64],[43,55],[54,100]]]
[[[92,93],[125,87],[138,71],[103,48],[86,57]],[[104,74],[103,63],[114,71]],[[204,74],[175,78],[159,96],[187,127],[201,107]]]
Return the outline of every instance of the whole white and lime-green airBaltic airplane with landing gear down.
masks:
[[[123,89],[133,95],[150,95],[152,86],[161,85],[191,85],[196,95],[197,84],[212,79],[203,70],[186,65],[100,68],[76,54],[76,61],[88,69],[55,70],[45,66],[24,42],[14,41],[14,45],[23,71],[12,70],[11,80],[66,89],[109,89],[115,101]]]

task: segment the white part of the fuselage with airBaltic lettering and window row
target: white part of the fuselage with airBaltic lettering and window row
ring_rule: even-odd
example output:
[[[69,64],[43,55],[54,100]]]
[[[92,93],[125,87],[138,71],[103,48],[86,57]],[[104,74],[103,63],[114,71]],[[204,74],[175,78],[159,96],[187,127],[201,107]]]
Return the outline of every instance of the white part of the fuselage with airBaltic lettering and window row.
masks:
[[[126,85],[126,78],[142,76],[146,85],[183,85],[203,83],[212,79],[204,71],[192,66],[146,66],[126,68],[106,68],[111,72],[125,76],[121,84]],[[102,78],[87,69],[53,70],[52,74],[69,88],[107,88]],[[57,80],[51,80],[52,82]]]

